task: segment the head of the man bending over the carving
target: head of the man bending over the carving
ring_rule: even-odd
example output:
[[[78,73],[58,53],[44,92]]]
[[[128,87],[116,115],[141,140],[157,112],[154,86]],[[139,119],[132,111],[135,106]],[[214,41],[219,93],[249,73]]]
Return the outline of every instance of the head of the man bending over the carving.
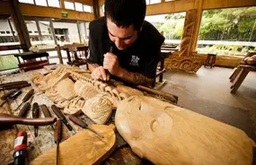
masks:
[[[109,36],[119,50],[131,46],[146,15],[146,0],[106,0],[105,16]]]

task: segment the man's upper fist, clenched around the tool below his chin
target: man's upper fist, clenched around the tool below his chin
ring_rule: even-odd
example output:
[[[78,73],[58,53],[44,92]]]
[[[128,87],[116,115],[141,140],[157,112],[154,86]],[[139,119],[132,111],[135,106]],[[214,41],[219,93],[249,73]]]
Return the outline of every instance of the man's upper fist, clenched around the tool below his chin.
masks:
[[[122,68],[119,65],[119,58],[112,53],[106,53],[104,55],[103,68],[108,70],[110,74],[119,76]]]

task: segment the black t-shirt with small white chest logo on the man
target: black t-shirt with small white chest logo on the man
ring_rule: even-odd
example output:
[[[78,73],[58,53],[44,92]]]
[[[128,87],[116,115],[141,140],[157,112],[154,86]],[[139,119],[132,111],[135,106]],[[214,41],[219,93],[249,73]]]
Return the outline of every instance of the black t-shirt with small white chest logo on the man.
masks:
[[[164,38],[151,23],[144,22],[137,40],[125,50],[119,50],[110,40],[105,17],[91,22],[89,30],[89,64],[102,65],[103,55],[112,47],[112,53],[118,56],[122,68],[149,78],[155,77]]]

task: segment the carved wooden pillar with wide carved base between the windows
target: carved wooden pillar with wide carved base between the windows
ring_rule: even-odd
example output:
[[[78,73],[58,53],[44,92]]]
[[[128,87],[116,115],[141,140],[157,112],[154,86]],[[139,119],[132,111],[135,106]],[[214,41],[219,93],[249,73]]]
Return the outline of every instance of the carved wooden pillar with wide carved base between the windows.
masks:
[[[203,62],[193,53],[193,40],[197,24],[198,10],[193,9],[186,13],[184,29],[181,38],[181,50],[175,52],[165,60],[169,69],[181,70],[188,73],[197,73]]]

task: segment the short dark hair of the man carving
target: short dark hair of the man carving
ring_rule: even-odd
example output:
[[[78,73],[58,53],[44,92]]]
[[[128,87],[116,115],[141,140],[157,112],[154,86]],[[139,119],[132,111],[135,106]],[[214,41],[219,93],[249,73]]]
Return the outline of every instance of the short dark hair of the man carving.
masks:
[[[146,0],[106,0],[105,16],[118,27],[128,28],[131,24],[139,30],[146,15]]]

